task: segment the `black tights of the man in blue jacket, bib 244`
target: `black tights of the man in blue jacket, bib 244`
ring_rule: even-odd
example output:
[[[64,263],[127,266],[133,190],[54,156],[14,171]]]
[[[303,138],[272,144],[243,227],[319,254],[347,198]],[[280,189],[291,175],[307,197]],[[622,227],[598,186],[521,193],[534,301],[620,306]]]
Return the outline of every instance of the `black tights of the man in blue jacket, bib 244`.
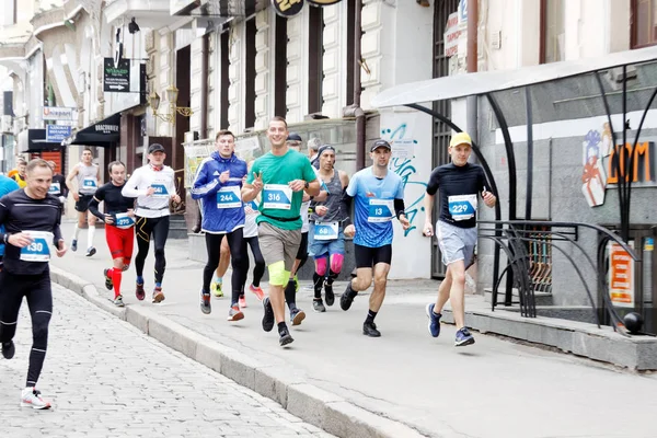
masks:
[[[246,274],[249,272],[249,254],[246,253],[246,240],[241,228],[227,234],[211,234],[206,232],[206,249],[208,252],[208,263],[203,270],[203,290],[210,290],[210,281],[212,274],[219,265],[221,253],[221,240],[228,239],[230,247],[230,265],[232,266],[232,276],[230,277],[230,286],[232,289],[231,306],[238,304],[242,287],[246,283]]]

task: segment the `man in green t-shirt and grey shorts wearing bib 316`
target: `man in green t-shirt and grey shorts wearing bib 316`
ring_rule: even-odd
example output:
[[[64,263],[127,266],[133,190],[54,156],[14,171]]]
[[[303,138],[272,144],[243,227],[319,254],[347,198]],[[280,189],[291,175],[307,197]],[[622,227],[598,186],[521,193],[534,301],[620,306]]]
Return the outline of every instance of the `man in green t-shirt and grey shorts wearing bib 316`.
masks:
[[[269,272],[269,297],[263,300],[263,330],[272,331],[276,320],[281,346],[295,341],[285,323],[283,289],[301,242],[302,192],[310,196],[320,193],[320,182],[308,158],[286,145],[288,134],[285,118],[272,118],[267,129],[272,150],[255,160],[242,188],[244,203],[262,192],[257,238]]]

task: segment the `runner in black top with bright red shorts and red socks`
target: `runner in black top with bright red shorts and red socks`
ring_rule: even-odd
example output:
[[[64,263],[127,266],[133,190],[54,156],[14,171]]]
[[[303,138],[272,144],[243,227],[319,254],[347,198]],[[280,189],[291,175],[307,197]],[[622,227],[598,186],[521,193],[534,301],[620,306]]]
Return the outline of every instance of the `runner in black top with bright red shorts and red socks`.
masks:
[[[113,161],[107,166],[111,182],[101,186],[89,203],[89,211],[107,224],[105,239],[114,261],[114,266],[104,270],[105,287],[114,288],[114,303],[123,308],[120,281],[124,270],[130,266],[132,247],[135,244],[135,198],[122,195],[126,185],[126,165],[120,161]],[[99,203],[105,201],[105,214],[99,211]]]

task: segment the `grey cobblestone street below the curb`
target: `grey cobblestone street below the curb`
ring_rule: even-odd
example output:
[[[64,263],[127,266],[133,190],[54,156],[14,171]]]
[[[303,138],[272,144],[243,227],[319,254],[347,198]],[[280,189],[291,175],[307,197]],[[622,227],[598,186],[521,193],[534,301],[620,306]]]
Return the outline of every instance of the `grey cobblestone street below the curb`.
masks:
[[[12,360],[0,357],[1,437],[331,437],[54,285],[37,384],[49,411],[19,407],[31,323],[23,302]]]

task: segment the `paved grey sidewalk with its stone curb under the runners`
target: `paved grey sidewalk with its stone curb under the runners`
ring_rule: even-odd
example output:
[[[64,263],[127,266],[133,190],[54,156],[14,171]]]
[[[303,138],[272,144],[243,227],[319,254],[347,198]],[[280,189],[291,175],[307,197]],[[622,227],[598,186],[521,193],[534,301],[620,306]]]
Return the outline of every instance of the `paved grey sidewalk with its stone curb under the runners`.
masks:
[[[72,223],[62,229],[70,241]],[[97,302],[120,318],[334,435],[655,436],[650,418],[657,412],[656,374],[634,374],[477,333],[475,345],[456,348],[451,325],[442,325],[441,336],[434,339],[424,306],[435,299],[436,281],[391,283],[377,316],[381,338],[361,334],[367,297],[357,297],[348,312],[336,300],[326,313],[316,314],[312,292],[303,285],[298,306],[308,318],[292,328],[295,343],[284,349],[274,332],[262,331],[263,311],[253,295],[246,296],[250,308],[238,323],[226,321],[228,298],[212,298],[212,313],[201,314],[203,265],[186,258],[186,241],[168,243],[164,302],[137,301],[131,268],[124,275],[127,308],[112,309],[102,276],[110,255],[103,231],[96,234],[99,253],[88,258],[79,251],[54,261],[69,273],[60,276],[54,269],[55,278],[72,289],[77,285],[77,291],[94,301],[97,289],[106,297]],[[149,289],[152,265],[149,256]],[[87,283],[95,289],[82,290]],[[337,285],[335,290],[343,288]]]

